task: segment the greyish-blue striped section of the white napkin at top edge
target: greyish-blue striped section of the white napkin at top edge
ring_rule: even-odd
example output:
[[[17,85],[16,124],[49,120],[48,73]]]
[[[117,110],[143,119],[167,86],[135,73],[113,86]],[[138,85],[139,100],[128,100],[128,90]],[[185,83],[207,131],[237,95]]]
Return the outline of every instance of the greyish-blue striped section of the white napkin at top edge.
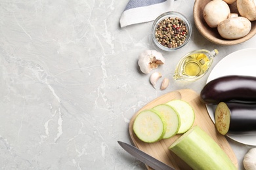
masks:
[[[128,10],[128,9],[135,9],[137,7],[146,7],[146,6],[149,6],[149,5],[155,5],[155,4],[158,4],[158,3],[163,3],[167,0],[130,0],[129,3],[127,4],[127,6],[125,7],[125,10]]]

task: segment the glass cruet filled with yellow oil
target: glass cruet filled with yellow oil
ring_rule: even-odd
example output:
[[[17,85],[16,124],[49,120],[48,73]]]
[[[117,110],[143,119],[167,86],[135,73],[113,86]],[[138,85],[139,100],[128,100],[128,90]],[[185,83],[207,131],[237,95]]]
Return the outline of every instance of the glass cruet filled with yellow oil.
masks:
[[[189,52],[179,61],[173,78],[193,82],[207,73],[213,58],[219,54],[218,50],[194,50]]]

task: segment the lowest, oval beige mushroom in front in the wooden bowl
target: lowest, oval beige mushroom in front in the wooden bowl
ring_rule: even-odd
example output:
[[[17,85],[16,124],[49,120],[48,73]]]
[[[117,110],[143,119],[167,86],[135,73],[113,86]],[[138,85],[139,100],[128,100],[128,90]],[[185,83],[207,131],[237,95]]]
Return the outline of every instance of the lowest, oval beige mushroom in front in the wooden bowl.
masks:
[[[224,39],[240,39],[251,30],[251,22],[242,16],[230,17],[220,22],[217,29]]]

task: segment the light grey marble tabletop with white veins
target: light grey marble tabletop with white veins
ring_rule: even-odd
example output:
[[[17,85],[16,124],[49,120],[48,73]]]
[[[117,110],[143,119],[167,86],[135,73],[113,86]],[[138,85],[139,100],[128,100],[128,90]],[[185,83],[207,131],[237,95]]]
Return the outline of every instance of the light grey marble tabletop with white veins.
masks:
[[[129,140],[129,120],[156,97],[190,88],[171,79],[154,90],[137,58],[155,49],[152,22],[119,27],[126,1],[0,1],[0,169],[146,169],[117,141]],[[255,47],[256,38],[218,46],[196,29],[193,0],[175,1],[192,23],[191,41],[177,52],[162,52],[158,68],[171,78],[183,54],[200,48],[224,56]],[[156,48],[156,50],[159,50]],[[238,157],[249,148],[228,139]]]

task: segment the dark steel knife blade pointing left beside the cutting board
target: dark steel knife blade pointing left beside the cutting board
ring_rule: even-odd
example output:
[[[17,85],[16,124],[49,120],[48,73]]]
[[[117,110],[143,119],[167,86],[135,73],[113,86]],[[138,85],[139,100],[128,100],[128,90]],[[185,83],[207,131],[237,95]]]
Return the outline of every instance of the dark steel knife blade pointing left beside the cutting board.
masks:
[[[138,160],[142,161],[146,165],[152,167],[153,169],[162,169],[162,170],[172,170],[173,167],[170,167],[169,165],[166,165],[160,160],[157,160],[156,158],[150,156],[149,154],[146,154],[145,152],[139,150],[139,148],[136,148],[135,146],[124,143],[121,141],[117,141],[119,145],[129,154],[132,156],[135,156]]]

